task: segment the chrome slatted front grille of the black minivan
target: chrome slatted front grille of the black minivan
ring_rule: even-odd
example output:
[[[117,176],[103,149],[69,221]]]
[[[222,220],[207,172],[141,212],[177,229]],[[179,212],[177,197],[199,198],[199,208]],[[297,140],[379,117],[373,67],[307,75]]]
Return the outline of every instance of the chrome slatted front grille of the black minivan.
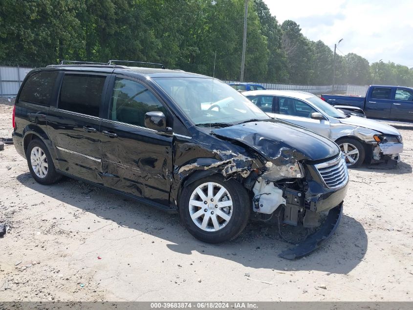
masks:
[[[328,188],[337,189],[346,185],[348,170],[343,155],[326,163],[317,164],[315,167]]]

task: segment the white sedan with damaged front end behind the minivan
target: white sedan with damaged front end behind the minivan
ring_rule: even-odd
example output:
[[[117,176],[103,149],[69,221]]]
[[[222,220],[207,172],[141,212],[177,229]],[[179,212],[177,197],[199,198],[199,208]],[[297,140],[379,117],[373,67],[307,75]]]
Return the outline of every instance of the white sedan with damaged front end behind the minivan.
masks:
[[[358,167],[365,159],[369,163],[400,161],[403,141],[394,127],[345,114],[310,93],[262,90],[242,95],[274,119],[300,125],[335,141],[348,166]]]

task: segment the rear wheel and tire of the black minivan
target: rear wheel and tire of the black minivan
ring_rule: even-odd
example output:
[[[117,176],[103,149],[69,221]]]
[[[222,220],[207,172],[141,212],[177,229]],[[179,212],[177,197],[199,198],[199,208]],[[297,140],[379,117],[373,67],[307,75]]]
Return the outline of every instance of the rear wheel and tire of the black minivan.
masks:
[[[43,141],[32,140],[26,151],[27,166],[36,182],[43,185],[56,183],[61,175],[56,172],[52,157]]]

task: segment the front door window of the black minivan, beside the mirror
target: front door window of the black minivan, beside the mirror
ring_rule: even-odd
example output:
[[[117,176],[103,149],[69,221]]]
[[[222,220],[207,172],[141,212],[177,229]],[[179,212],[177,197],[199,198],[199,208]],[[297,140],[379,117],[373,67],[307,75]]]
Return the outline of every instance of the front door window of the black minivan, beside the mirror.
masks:
[[[116,78],[110,103],[109,119],[145,126],[145,113],[166,110],[145,86],[135,81]]]

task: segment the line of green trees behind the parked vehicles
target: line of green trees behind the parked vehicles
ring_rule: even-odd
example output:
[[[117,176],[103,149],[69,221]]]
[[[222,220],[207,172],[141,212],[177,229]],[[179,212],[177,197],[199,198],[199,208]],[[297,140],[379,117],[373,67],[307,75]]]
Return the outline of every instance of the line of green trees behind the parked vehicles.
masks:
[[[243,17],[244,0],[2,0],[0,63],[138,60],[239,80]],[[262,0],[249,1],[247,21],[246,81],[332,84],[324,42],[280,24]],[[335,81],[413,86],[413,70],[337,54]]]

